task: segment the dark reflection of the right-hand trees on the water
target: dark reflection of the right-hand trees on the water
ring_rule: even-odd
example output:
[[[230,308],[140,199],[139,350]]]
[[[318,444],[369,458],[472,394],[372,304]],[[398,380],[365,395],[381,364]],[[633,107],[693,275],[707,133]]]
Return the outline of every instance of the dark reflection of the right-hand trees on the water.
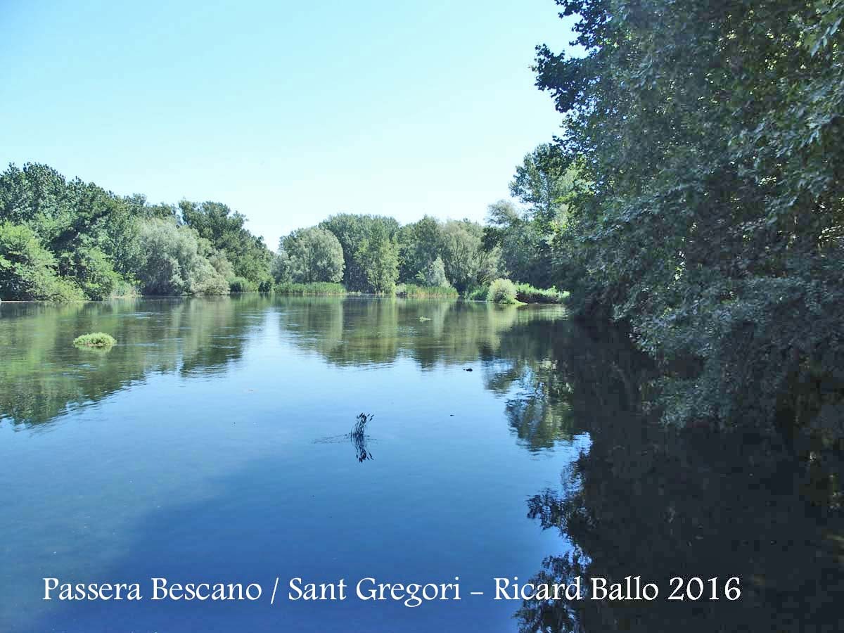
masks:
[[[623,334],[542,327],[551,355],[508,370],[533,385],[507,404],[511,425],[528,447],[562,432],[587,431],[592,442],[559,488],[527,501],[527,516],[562,538],[530,582],[641,576],[660,593],[653,602],[525,601],[520,630],[844,629],[840,456],[801,453],[776,430],[664,428],[640,414],[650,368]],[[502,354],[532,328],[514,327]],[[706,587],[738,576],[741,598],[668,601],[674,576]]]

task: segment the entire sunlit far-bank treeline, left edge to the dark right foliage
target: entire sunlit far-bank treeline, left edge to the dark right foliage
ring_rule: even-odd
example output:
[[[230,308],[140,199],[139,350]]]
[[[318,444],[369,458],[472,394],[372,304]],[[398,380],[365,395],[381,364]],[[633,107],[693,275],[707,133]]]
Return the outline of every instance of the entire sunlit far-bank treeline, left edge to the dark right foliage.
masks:
[[[294,294],[459,293],[486,300],[495,294],[495,279],[509,278],[522,284],[505,300],[555,302],[559,293],[540,289],[554,279],[548,235],[560,214],[554,188],[560,183],[549,187],[535,160],[528,157],[512,185],[529,206],[495,203],[490,225],[430,216],[400,225],[385,216],[338,214],[293,231],[277,254],[223,203],[150,204],[143,196],[120,197],[78,178],[68,181],[46,165],[10,165],[0,176],[0,299],[274,288]]]

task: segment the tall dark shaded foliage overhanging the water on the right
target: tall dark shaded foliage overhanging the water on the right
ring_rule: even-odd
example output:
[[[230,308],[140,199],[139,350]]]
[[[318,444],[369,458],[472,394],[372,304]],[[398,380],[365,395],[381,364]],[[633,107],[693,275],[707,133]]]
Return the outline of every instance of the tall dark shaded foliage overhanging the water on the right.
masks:
[[[665,419],[841,431],[844,3],[558,3],[558,285],[630,322]]]

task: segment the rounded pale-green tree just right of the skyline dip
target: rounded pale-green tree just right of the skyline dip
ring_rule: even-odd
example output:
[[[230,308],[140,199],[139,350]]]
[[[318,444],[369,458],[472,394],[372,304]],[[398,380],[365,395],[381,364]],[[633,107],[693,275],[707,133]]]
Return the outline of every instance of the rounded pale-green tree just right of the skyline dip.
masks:
[[[279,250],[287,258],[289,276],[296,283],[343,279],[343,246],[326,229],[299,229],[284,237]]]

